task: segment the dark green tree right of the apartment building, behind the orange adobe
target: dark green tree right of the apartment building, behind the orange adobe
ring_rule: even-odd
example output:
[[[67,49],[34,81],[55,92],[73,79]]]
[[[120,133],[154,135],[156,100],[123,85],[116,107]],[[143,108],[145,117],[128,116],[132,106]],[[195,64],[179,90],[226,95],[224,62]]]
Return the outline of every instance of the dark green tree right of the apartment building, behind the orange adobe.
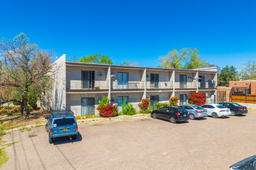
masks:
[[[218,85],[227,86],[229,85],[229,81],[236,81],[238,80],[238,72],[236,71],[236,67],[224,67],[221,70],[221,73],[218,74]]]

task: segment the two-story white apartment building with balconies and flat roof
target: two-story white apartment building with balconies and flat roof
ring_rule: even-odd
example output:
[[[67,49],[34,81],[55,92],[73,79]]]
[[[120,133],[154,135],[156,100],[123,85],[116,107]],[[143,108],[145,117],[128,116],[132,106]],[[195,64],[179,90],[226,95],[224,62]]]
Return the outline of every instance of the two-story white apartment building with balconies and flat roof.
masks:
[[[138,104],[145,98],[154,106],[178,96],[182,105],[191,92],[205,93],[206,103],[215,103],[217,95],[216,67],[182,70],[76,63],[67,62],[65,55],[54,62],[54,67],[58,67],[58,74],[50,94],[51,108],[72,110],[76,115],[98,114],[102,96],[108,96],[118,107],[126,99],[139,110]]]

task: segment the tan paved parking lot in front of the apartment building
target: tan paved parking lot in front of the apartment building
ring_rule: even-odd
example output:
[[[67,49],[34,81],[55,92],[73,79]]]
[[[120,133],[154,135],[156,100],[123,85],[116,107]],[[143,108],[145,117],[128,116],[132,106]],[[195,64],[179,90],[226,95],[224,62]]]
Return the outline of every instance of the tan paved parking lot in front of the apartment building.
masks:
[[[256,110],[171,124],[153,118],[81,124],[75,141],[48,143],[45,128],[12,132],[2,169],[228,169],[256,154]]]

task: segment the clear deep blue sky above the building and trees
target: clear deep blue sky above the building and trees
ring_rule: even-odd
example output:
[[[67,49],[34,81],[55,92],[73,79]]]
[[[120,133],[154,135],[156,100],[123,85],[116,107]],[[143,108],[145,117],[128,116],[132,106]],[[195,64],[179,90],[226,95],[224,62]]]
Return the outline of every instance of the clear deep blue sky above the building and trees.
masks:
[[[57,56],[109,55],[157,67],[173,49],[198,48],[221,67],[256,60],[256,1],[12,1],[0,2],[0,38],[24,32]]]

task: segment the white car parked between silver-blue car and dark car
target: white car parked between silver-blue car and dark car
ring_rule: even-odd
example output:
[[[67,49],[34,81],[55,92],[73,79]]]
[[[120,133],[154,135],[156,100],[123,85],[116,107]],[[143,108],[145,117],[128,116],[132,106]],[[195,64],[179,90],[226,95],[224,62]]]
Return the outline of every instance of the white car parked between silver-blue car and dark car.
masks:
[[[205,108],[207,110],[208,116],[212,116],[213,118],[220,118],[231,115],[230,109],[221,106],[220,104],[205,104],[202,105],[202,108]]]

